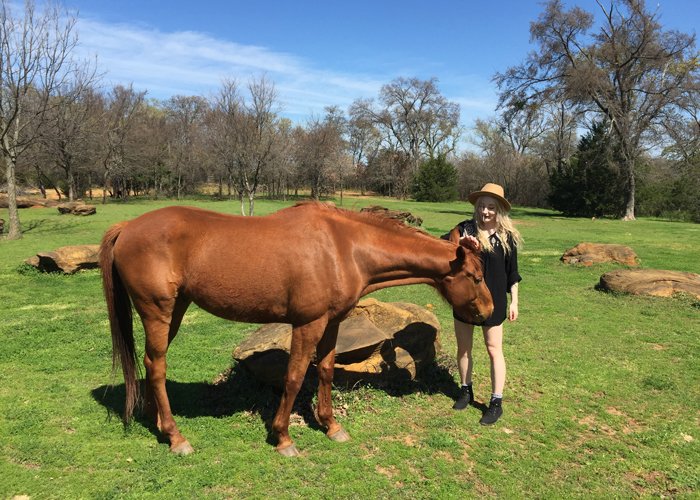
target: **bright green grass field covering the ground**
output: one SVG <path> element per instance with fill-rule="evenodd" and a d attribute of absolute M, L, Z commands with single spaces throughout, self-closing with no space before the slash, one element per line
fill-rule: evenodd
<path fill-rule="evenodd" d="M 190 309 L 168 357 L 175 418 L 196 449 L 172 456 L 144 421 L 118 417 L 123 385 L 97 271 L 40 274 L 24 259 L 98 243 L 114 222 L 172 204 L 98 205 L 91 217 L 22 210 L 24 238 L 0 240 L 0 497 L 458 498 L 695 497 L 700 491 L 700 303 L 595 289 L 613 265 L 569 267 L 581 241 L 630 245 L 646 268 L 700 272 L 700 226 L 642 219 L 565 219 L 515 208 L 520 319 L 506 325 L 505 414 L 451 410 L 456 377 L 449 307 L 427 286 L 374 294 L 432 304 L 442 325 L 437 363 L 412 384 L 334 391 L 352 440 L 328 440 L 296 406 L 296 459 L 274 452 L 267 426 L 279 394 L 233 367 L 233 348 L 256 325 Z M 236 213 L 236 202 L 189 201 Z M 410 210 L 442 234 L 466 204 L 345 198 L 347 208 Z M 259 200 L 270 213 L 282 202 Z M 0 215 L 1 216 L 1 215 Z M 6 217 L 5 217 L 6 218 Z M 143 334 L 137 328 L 139 351 Z M 489 393 L 485 349 L 475 349 L 477 399 Z M 114 388 L 109 385 L 114 383 Z"/>

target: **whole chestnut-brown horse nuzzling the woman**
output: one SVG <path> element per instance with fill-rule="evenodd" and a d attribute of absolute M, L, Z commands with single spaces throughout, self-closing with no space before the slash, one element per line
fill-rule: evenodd
<path fill-rule="evenodd" d="M 112 358 L 126 387 L 124 417 L 139 400 L 131 304 L 145 330 L 145 409 L 178 454 L 193 451 L 175 424 L 165 390 L 165 356 L 187 307 L 250 323 L 290 323 L 285 388 L 272 432 L 296 455 L 289 417 L 314 349 L 318 420 L 329 438 L 348 434 L 333 417 L 331 383 L 339 322 L 363 295 L 427 283 L 460 316 L 493 309 L 481 262 L 458 234 L 445 241 L 375 215 L 305 203 L 265 217 L 168 207 L 112 226 L 100 267 L 112 330 Z"/>

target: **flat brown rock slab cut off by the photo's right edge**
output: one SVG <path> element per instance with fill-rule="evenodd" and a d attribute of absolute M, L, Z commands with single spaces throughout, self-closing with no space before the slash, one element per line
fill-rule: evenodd
<path fill-rule="evenodd" d="M 700 274 L 660 269 L 618 269 L 601 276 L 599 288 L 655 297 L 687 293 L 700 299 Z"/>

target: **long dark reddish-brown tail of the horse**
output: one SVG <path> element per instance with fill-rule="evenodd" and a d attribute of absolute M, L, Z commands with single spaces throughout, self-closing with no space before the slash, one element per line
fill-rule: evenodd
<path fill-rule="evenodd" d="M 131 301 L 119 272 L 114 267 L 114 244 L 125 225 L 126 223 L 113 225 L 102 238 L 100 269 L 102 270 L 102 287 L 109 313 L 109 325 L 112 330 L 112 373 L 114 374 L 117 366 L 121 365 L 126 390 L 124 420 L 128 422 L 134 413 L 140 395 L 137 382 L 138 365 L 134 349 Z"/>

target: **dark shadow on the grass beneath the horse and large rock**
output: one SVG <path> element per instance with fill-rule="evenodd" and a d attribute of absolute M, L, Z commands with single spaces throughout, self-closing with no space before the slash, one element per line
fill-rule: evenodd
<path fill-rule="evenodd" d="M 414 380 L 406 380 L 406 377 L 401 376 L 394 376 L 390 380 L 375 378 L 358 381 L 352 385 L 334 385 L 333 391 L 352 392 L 370 387 L 384 391 L 391 397 L 422 392 L 442 393 L 455 399 L 458 395 L 458 387 L 449 370 L 443 366 L 443 361 L 436 359 L 425 366 Z M 143 381 L 141 382 L 143 384 Z M 292 415 L 293 418 L 296 415 L 296 418 L 303 419 L 310 428 L 321 430 L 314 414 L 317 384 L 316 370 L 310 368 L 294 401 Z M 257 414 L 265 424 L 267 442 L 271 445 L 276 444 L 272 435 L 272 420 L 280 402 L 281 390 L 258 381 L 242 365 L 234 363 L 229 371 L 212 383 L 168 380 L 166 388 L 173 415 L 196 418 L 225 417 L 241 412 Z M 95 401 L 107 409 L 110 418 L 120 418 L 123 415 L 125 399 L 123 383 L 96 387 L 91 394 Z M 144 412 L 137 410 L 134 420 L 162 440 L 155 423 Z"/>

